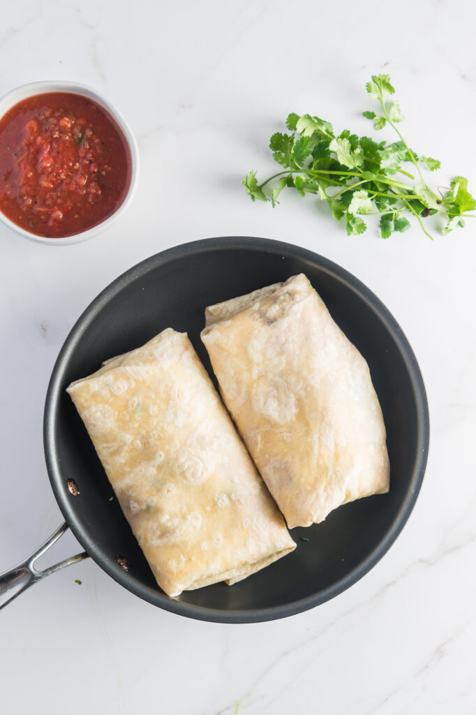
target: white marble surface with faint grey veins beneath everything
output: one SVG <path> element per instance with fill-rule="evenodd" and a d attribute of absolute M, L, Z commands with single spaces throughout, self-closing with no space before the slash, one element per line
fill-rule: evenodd
<path fill-rule="evenodd" d="M 434 242 L 416 226 L 349 239 L 312 200 L 273 210 L 241 186 L 248 169 L 272 167 L 269 135 L 290 111 L 368 131 L 365 82 L 388 71 L 405 136 L 442 161 L 437 181 L 463 174 L 474 191 L 475 21 L 462 0 L 2 6 L 0 94 L 40 79 L 91 84 L 131 124 L 142 174 L 127 214 L 92 242 L 35 245 L 0 227 L 0 571 L 61 521 L 42 412 L 64 338 L 105 285 L 166 247 L 258 235 L 347 268 L 402 325 L 432 425 L 410 521 L 341 596 L 282 621 L 202 623 L 80 563 L 1 611 L 2 713 L 476 712 L 476 220 Z M 77 548 L 65 536 L 54 556 Z"/>

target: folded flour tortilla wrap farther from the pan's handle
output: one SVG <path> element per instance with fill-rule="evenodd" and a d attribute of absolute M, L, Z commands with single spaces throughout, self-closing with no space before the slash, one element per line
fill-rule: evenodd
<path fill-rule="evenodd" d="M 225 405 L 289 528 L 389 489 L 369 368 L 304 275 L 208 307 Z"/>

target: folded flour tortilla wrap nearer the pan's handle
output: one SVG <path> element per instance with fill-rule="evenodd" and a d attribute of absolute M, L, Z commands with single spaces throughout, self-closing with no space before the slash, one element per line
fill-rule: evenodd
<path fill-rule="evenodd" d="M 186 334 L 168 328 L 67 391 L 169 596 L 295 548 Z"/>

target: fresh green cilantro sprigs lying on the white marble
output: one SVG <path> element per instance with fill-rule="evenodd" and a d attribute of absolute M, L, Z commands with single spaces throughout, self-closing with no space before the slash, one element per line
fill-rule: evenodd
<path fill-rule="evenodd" d="M 409 229 L 409 215 L 416 218 L 430 238 L 423 223 L 427 216 L 438 214 L 445 219 L 443 234 L 464 226 L 463 217 L 474 217 L 469 212 L 476 209 L 476 200 L 467 190 L 467 179 L 455 177 L 444 193 L 435 194 L 425 182 L 422 169 L 435 171 L 440 162 L 417 154 L 402 137 L 397 124 L 404 117 L 399 102 L 389 99 L 395 94 L 390 77 L 372 75 L 366 87 L 380 109 L 378 114 L 373 110 L 362 112 L 363 116 L 377 130 L 388 124 L 397 133 L 397 141 L 376 142 L 370 137 L 357 137 L 349 129 L 336 136 L 332 124 L 319 117 L 289 114 L 289 134 L 277 132 L 269 142 L 275 161 L 284 170 L 261 183 L 255 171 L 249 172 L 243 182 L 249 196 L 253 201 L 271 201 L 275 207 L 285 188 L 295 189 L 302 196 L 315 194 L 327 201 L 334 219 L 345 220 L 348 235 L 365 232 L 367 224 L 362 216 L 366 215 L 380 216 L 382 238 Z M 408 164 L 413 164 L 416 172 L 412 169 L 411 173 Z"/>

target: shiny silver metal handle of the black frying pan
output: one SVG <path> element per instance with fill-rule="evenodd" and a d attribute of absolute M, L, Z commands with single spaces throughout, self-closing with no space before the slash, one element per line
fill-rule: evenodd
<path fill-rule="evenodd" d="M 87 558 L 88 554 L 83 551 L 82 553 L 76 554 L 76 556 L 70 556 L 69 558 L 65 558 L 64 561 L 55 563 L 54 566 L 44 568 L 43 571 L 38 571 L 34 567 L 36 559 L 48 551 L 49 547 L 52 546 L 55 541 L 58 541 L 59 537 L 64 534 L 67 528 L 68 525 L 66 522 L 62 523 L 61 526 L 51 534 L 49 539 L 46 539 L 44 544 L 32 553 L 29 558 L 26 558 L 25 561 L 21 561 L 17 566 L 14 566 L 14 568 L 0 575 L 0 608 L 3 608 L 7 603 L 13 601 L 16 596 L 19 596 L 22 591 L 25 591 L 26 588 L 36 583 L 36 581 L 41 581 L 41 578 L 44 578 L 44 576 L 49 576 L 50 573 L 59 571 L 59 569 L 64 568 L 64 566 L 70 566 L 71 563 L 76 563 L 76 561 L 82 561 L 84 558 Z"/>

